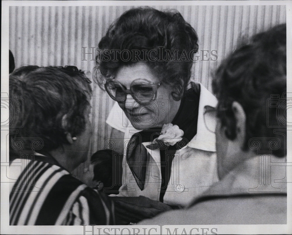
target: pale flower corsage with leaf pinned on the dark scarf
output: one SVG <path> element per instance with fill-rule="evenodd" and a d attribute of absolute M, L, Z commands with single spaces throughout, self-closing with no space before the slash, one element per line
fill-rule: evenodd
<path fill-rule="evenodd" d="M 147 145 L 146 148 L 154 149 L 164 149 L 169 145 L 175 145 L 178 141 L 181 141 L 183 138 L 184 132 L 177 125 L 171 123 L 164 124 L 161 130 L 160 136 L 155 138 L 150 145 Z"/>

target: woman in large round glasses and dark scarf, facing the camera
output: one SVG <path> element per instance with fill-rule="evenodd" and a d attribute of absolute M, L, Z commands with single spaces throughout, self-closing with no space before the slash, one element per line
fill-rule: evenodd
<path fill-rule="evenodd" d="M 118 196 L 145 196 L 184 207 L 216 173 L 216 98 L 190 83 L 196 31 L 177 11 L 134 8 L 99 42 L 95 80 L 116 101 L 107 123 L 124 137 L 123 182 Z M 206 114 L 212 112 L 205 112 Z"/>

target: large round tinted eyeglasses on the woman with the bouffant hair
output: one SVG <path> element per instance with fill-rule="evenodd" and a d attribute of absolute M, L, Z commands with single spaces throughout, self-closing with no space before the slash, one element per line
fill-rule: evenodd
<path fill-rule="evenodd" d="M 105 90 L 109 96 L 117 102 L 123 102 L 127 94 L 134 95 L 134 99 L 137 101 L 151 101 L 156 99 L 157 89 L 160 85 L 160 82 L 150 83 L 146 79 L 136 79 L 131 83 L 130 89 L 127 89 L 117 80 L 108 79 L 105 83 Z"/>

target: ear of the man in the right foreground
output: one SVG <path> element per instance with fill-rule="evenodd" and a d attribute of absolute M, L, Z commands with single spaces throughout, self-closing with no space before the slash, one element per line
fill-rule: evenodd
<path fill-rule="evenodd" d="M 240 147 L 243 147 L 246 136 L 246 114 L 241 104 L 237 101 L 233 101 L 232 103 L 232 112 L 236 122 L 235 141 L 237 141 Z"/>

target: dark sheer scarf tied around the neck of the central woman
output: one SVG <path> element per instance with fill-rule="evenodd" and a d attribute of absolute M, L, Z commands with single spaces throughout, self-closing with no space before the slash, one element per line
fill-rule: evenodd
<path fill-rule="evenodd" d="M 167 148 L 160 149 L 162 183 L 159 201 L 161 202 L 163 202 L 163 197 L 169 182 L 171 175 L 171 163 L 175 156 L 176 150 L 179 150 L 187 145 L 187 143 L 189 143 L 197 134 L 199 97 L 200 85 L 191 83 L 191 88 L 185 92 L 178 112 L 171 122 L 173 125 L 178 125 L 178 127 L 184 131 L 184 135 L 182 136 L 183 139 L 173 146 L 169 145 Z M 161 129 L 162 127 L 154 127 L 139 131 L 138 133 L 133 134 L 128 143 L 126 152 L 127 163 L 140 190 L 144 189 L 147 170 L 147 150 L 142 143 L 152 142 L 160 135 Z"/>

